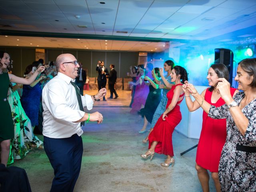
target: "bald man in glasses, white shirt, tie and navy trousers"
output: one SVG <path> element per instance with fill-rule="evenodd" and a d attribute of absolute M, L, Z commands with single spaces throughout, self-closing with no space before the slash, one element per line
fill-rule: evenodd
<path fill-rule="evenodd" d="M 74 84 L 78 76 L 78 62 L 72 54 L 56 59 L 58 75 L 50 80 L 42 92 L 44 149 L 54 169 L 51 192 L 72 192 L 79 176 L 83 144 L 82 124 L 102 123 L 99 112 L 85 113 L 94 101 L 106 95 L 106 88 L 94 96 L 81 96 Z"/>

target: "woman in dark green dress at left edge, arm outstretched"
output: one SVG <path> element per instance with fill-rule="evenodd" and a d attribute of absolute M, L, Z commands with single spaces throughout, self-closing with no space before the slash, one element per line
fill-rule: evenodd
<path fill-rule="evenodd" d="M 10 139 L 14 137 L 14 123 L 12 120 L 12 112 L 7 100 L 9 83 L 31 84 L 38 74 L 44 71 L 44 66 L 39 67 L 34 74 L 28 78 L 20 78 L 13 74 L 8 74 L 10 67 L 10 54 L 0 51 L 0 146 L 1 146 L 1 163 L 7 165 L 10 154 Z"/>

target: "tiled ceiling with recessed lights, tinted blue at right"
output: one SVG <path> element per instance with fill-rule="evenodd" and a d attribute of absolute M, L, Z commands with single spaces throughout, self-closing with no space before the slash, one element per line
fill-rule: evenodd
<path fill-rule="evenodd" d="M 256 1 L 1 0 L 0 34 L 0 46 L 139 52 L 229 43 L 256 37 Z"/>

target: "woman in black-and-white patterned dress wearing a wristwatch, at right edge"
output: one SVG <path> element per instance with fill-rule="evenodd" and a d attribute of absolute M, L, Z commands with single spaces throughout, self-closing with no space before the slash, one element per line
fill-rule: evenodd
<path fill-rule="evenodd" d="M 192 84 L 189 92 L 211 118 L 226 118 L 227 138 L 219 164 L 221 191 L 256 191 L 256 58 L 239 62 L 235 80 L 238 92 L 233 98 L 230 83 L 218 79 L 217 90 L 226 104 L 215 107 L 207 103 Z"/>

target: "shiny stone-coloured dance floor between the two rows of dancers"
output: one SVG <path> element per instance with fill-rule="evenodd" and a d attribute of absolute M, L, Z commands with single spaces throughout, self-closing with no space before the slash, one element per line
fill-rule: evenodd
<path fill-rule="evenodd" d="M 83 127 L 84 153 L 75 192 L 200 192 L 196 174 L 196 149 L 180 153 L 196 145 L 198 140 L 174 131 L 174 167 L 162 167 L 166 156 L 156 154 L 152 161 L 140 158 L 148 144 L 141 141 L 147 133 L 139 134 L 143 119 L 129 113 L 130 91 L 118 90 L 118 99 L 94 103 L 91 112 L 104 116 L 102 124 L 88 122 Z M 96 90 L 86 91 L 95 94 Z M 109 90 L 108 95 L 109 96 Z M 148 126 L 148 129 L 150 126 Z M 38 136 L 43 139 L 41 135 Z M 50 191 L 53 169 L 44 150 L 34 149 L 12 166 L 26 170 L 33 192 Z M 215 191 L 210 179 L 210 190 Z"/>

